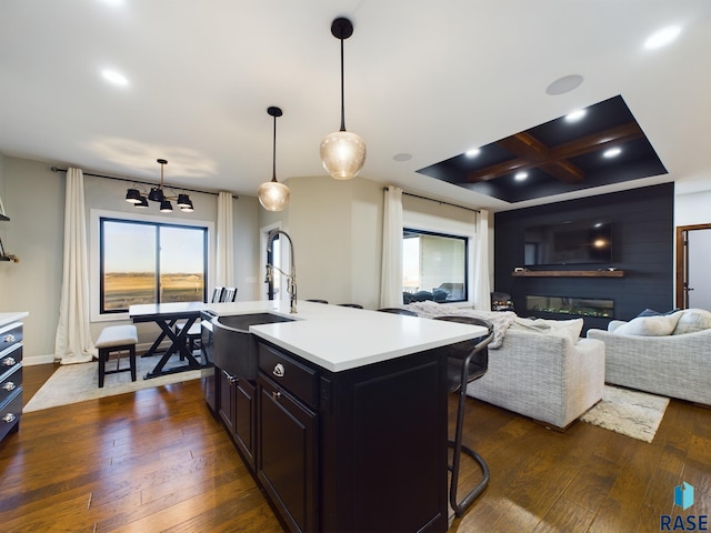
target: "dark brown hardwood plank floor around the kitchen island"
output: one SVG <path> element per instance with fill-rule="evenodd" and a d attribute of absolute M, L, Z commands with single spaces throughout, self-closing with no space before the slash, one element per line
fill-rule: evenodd
<path fill-rule="evenodd" d="M 23 369 L 26 403 L 53 370 Z M 653 532 L 661 514 L 711 514 L 711 410 L 687 402 L 671 401 L 647 444 L 470 400 L 464 440 L 491 483 L 453 532 Z M 7 532 L 282 531 L 199 381 L 28 413 L 0 443 L 0 475 Z M 682 481 L 695 492 L 687 511 L 673 505 Z"/>

